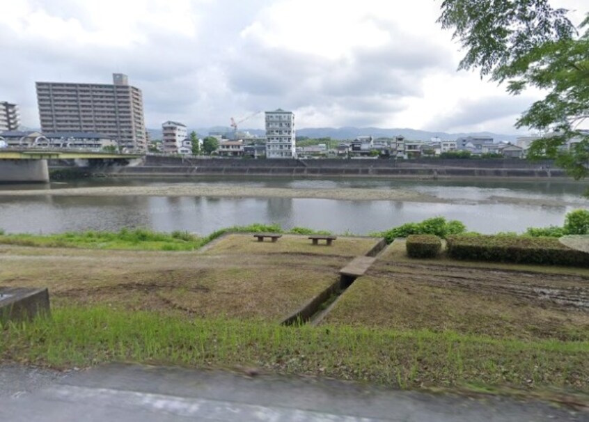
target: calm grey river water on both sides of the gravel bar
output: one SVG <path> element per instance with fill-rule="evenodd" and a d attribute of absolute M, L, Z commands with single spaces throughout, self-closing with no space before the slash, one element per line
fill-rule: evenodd
<path fill-rule="evenodd" d="M 453 203 L 342 201 L 306 198 L 206 198 L 162 196 L 52 196 L 64 187 L 150 186 L 169 183 L 290 187 L 297 189 L 403 188 Z M 570 181 L 407 181 L 200 178 L 198 180 L 80 180 L 51 185 L 0 185 L 1 191 L 47 189 L 42 196 L 0 196 L 0 228 L 7 233 L 68 230 L 188 230 L 205 235 L 218 228 L 252 223 L 304 226 L 364 235 L 435 216 L 457 219 L 480 233 L 522 232 L 529 226 L 562 225 L 565 214 L 588 208 L 588 185 Z M 502 198 L 510 198 L 508 203 Z M 485 203 L 480 203 L 484 201 Z M 530 203 L 526 203 L 529 201 Z M 546 201 L 545 205 L 538 203 Z"/>

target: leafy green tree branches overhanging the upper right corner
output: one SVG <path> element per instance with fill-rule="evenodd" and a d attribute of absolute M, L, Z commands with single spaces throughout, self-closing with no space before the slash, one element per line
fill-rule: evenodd
<path fill-rule="evenodd" d="M 459 69 L 478 69 L 512 95 L 547 92 L 516 127 L 553 131 L 528 157 L 555 158 L 579 180 L 589 175 L 589 132 L 579 128 L 589 118 L 589 14 L 576 28 L 567 12 L 548 0 L 444 0 L 438 22 L 466 49 Z"/>

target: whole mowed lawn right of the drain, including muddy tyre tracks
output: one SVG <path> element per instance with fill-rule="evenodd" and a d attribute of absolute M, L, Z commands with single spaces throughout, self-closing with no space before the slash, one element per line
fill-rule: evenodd
<path fill-rule="evenodd" d="M 586 269 L 412 260 L 393 244 L 322 324 L 589 341 Z"/>

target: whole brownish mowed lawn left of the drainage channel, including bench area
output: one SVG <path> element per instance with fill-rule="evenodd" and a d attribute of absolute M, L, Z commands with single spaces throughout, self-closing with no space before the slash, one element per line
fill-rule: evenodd
<path fill-rule="evenodd" d="M 0 286 L 47 287 L 53 306 L 280 322 L 338 281 L 347 254 L 376 243 L 338 238 L 338 246 L 313 247 L 299 236 L 274 244 L 252 239 L 229 235 L 203 253 L 3 246 Z M 276 253 L 262 250 L 270 248 Z"/>

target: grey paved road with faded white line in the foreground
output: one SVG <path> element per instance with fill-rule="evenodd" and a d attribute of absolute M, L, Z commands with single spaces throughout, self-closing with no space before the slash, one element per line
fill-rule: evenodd
<path fill-rule="evenodd" d="M 7 388 L 5 382 L 15 386 Z M 65 375 L 0 367 L 0 386 L 0 421 L 13 422 L 589 421 L 589 413 L 539 402 L 139 365 L 113 364 Z"/>

